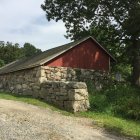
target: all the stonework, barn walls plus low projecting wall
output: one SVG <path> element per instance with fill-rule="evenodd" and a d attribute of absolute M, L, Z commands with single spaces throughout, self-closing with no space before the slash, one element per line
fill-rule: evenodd
<path fill-rule="evenodd" d="M 86 111 L 89 100 L 85 81 L 90 79 L 101 88 L 107 76 L 94 70 L 39 66 L 0 75 L 0 91 L 31 95 L 72 112 Z"/>

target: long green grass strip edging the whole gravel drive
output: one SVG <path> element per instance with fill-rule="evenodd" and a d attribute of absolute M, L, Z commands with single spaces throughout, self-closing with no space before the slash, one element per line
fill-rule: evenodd
<path fill-rule="evenodd" d="M 130 136 L 130 137 L 140 139 L 139 121 L 124 119 L 122 117 L 116 117 L 114 115 L 107 114 L 105 112 L 96 112 L 93 110 L 88 112 L 72 114 L 66 111 L 59 110 L 39 99 L 34 99 L 32 97 L 27 97 L 27 96 L 11 95 L 9 93 L 0 93 L 0 98 L 7 99 L 7 100 L 22 101 L 28 104 L 32 104 L 44 108 L 51 108 L 52 110 L 59 111 L 64 115 L 88 117 L 93 119 L 93 125 L 104 127 L 107 131 L 111 131 L 111 133 L 115 132 L 117 133 L 117 135 L 118 134 L 125 135 L 125 136 Z"/>

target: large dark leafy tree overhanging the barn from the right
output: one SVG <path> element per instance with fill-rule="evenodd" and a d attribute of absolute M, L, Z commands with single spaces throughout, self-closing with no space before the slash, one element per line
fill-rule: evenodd
<path fill-rule="evenodd" d="M 41 7 L 48 21 L 65 23 L 72 40 L 91 25 L 103 25 L 109 31 L 111 27 L 114 35 L 110 40 L 117 39 L 117 49 L 121 47 L 130 58 L 133 84 L 140 86 L 140 0 L 45 0 Z"/>

